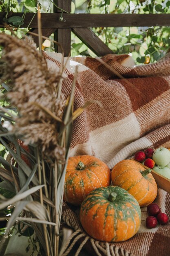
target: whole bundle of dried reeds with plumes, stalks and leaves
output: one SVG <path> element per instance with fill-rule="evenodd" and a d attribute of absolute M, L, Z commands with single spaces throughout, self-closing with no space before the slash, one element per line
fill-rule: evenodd
<path fill-rule="evenodd" d="M 0 126 L 5 141 L 14 144 L 16 153 L 3 139 L 0 139 L 1 143 L 18 164 L 18 167 L 14 167 L 4 159 L 0 159 L 5 167 L 2 173 L 6 173 L 4 176 L 0 172 L 0 176 L 3 176 L 9 187 L 9 182 L 12 181 L 16 188 L 15 197 L 9 200 L 10 204 L 15 205 L 15 210 L 8 222 L 7 230 L 15 224 L 16 219 L 20 220 L 18 216 L 21 210 L 24 210 L 27 218 L 25 222 L 33 227 L 40 241 L 41 250 L 48 256 L 57 256 L 62 188 L 73 117 L 75 118 L 73 113 L 75 79 L 71 95 L 65 105 L 61 93 L 63 64 L 59 74 L 50 72 L 44 57 L 28 37 L 19 40 L 1 33 L 0 45 L 4 47 L 1 62 L 4 63 L 5 72 L 2 80 L 9 81 L 11 88 L 6 97 L 11 106 L 18 109 L 15 118 L 5 116 L 6 110 L 2 109 L 3 117 L 14 121 L 14 123 L 10 121 L 11 131 L 7 132 L 6 128 Z M 76 116 L 81 112 L 82 109 L 79 109 Z M 22 138 L 25 145 L 29 145 L 29 152 L 18 145 L 18 137 Z M 23 153 L 29 159 L 31 168 L 23 161 Z M 6 198 L 1 198 L 0 209 L 8 205 L 8 201 L 5 200 Z"/>

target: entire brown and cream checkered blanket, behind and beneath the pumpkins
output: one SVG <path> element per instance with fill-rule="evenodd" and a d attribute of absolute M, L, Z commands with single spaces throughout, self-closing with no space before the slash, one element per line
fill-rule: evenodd
<path fill-rule="evenodd" d="M 49 69 L 58 71 L 61 55 L 44 53 L 44 56 Z M 170 54 L 158 63 L 137 67 L 132 67 L 128 55 L 110 54 L 102 60 L 107 67 L 90 57 L 70 58 L 66 65 L 62 84 L 66 98 L 71 91 L 75 65 L 78 65 L 74 108 L 88 100 L 102 103 L 102 107 L 89 106 L 75 120 L 70 156 L 95 155 L 113 168 L 137 150 L 170 148 Z M 160 189 L 157 201 L 170 218 L 170 195 Z M 67 216 L 71 216 L 70 221 Z M 71 221 L 75 216 L 70 210 L 64 211 L 63 218 L 75 230 L 80 229 L 79 224 L 75 225 L 76 220 Z M 143 222 L 139 232 L 123 243 L 99 243 L 86 236 L 83 230 L 72 236 L 79 240 L 80 235 L 85 234 L 82 235 L 84 241 L 90 241 L 96 255 L 170 256 L 170 223 L 146 229 Z M 64 256 L 69 255 L 70 247 L 68 244 Z"/>

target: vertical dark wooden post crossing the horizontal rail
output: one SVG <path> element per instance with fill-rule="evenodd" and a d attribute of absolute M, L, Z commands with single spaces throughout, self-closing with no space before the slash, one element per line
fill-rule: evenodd
<path fill-rule="evenodd" d="M 54 0 L 53 11 L 61 13 L 62 18 L 62 10 L 58 9 L 55 4 L 64 11 L 71 12 L 71 0 Z M 61 22 L 65 22 L 64 19 L 61 20 Z M 68 56 L 71 51 L 71 29 L 57 29 L 57 31 L 54 32 L 54 40 L 62 45 L 64 49 L 64 56 Z M 55 45 L 55 52 L 62 52 L 61 48 L 57 47 L 57 45 Z"/>

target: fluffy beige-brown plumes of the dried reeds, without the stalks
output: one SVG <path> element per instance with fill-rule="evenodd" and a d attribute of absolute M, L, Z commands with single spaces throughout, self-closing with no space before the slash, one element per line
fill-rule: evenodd
<path fill-rule="evenodd" d="M 6 65 L 1 79 L 10 81 L 7 97 L 19 112 L 13 132 L 23 135 L 25 144 L 38 144 L 49 156 L 64 161 L 65 149 L 57 141 L 64 106 L 64 97 L 57 98 L 61 76 L 48 70 L 30 37 L 20 40 L 0 33 L 0 45 Z"/>

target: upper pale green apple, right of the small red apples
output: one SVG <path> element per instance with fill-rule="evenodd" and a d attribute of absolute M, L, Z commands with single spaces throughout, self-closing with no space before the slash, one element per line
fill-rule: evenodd
<path fill-rule="evenodd" d="M 170 162 L 170 151 L 168 148 L 158 148 L 153 153 L 152 159 L 155 161 L 156 165 L 166 166 Z"/>

